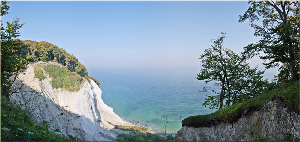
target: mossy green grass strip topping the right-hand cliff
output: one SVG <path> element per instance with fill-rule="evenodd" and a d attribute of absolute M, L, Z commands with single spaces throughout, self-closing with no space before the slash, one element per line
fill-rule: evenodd
<path fill-rule="evenodd" d="M 287 83 L 273 91 L 257 95 L 247 101 L 233 104 L 211 114 L 190 116 L 182 120 L 182 126 L 208 127 L 215 122 L 236 122 L 245 110 L 258 110 L 278 95 L 289 104 L 292 111 L 299 113 L 299 81 Z"/>

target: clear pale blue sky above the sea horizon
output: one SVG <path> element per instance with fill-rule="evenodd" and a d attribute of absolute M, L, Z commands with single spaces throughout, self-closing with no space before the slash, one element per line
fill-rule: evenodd
<path fill-rule="evenodd" d="M 211 39 L 227 32 L 235 52 L 257 42 L 247 1 L 11 1 L 2 22 L 21 18 L 21 40 L 47 41 L 88 67 L 198 67 Z M 4 23 L 5 26 L 5 23 Z M 250 66 L 263 69 L 262 60 Z"/>

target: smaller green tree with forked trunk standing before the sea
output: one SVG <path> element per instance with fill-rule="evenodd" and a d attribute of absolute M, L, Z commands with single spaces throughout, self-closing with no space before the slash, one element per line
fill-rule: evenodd
<path fill-rule="evenodd" d="M 216 95 L 207 96 L 203 102 L 203 106 L 209 106 L 210 109 L 223 108 L 223 102 L 226 105 L 234 104 L 241 96 L 249 99 L 252 96 L 262 93 L 267 80 L 263 80 L 264 71 L 259 71 L 256 68 L 250 68 L 247 57 L 240 56 L 230 49 L 223 47 L 223 41 L 226 38 L 226 33 L 222 33 L 214 42 L 211 42 L 210 47 L 204 51 L 204 54 L 199 58 L 202 62 L 202 69 L 197 74 L 197 80 L 205 80 L 205 83 L 215 81 L 214 87 L 203 87 L 201 92 L 211 91 Z M 217 92 L 216 89 L 221 89 Z"/>

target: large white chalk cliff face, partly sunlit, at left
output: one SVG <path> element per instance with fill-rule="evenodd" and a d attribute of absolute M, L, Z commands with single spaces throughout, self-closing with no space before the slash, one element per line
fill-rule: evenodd
<path fill-rule="evenodd" d="M 35 78 L 34 66 L 57 64 L 56 62 L 35 62 L 27 66 L 25 74 L 20 74 L 15 86 L 21 87 L 11 100 L 29 111 L 37 122 L 49 124 L 51 130 L 60 134 L 78 137 L 82 141 L 110 141 L 116 138 L 113 125 L 130 125 L 113 112 L 111 107 L 101 99 L 101 89 L 91 80 L 84 79 L 81 89 L 69 92 L 54 89 L 46 78 L 39 81 Z"/>

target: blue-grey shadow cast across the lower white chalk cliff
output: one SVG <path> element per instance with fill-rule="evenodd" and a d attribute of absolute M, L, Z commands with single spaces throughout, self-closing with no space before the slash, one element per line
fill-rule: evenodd
<path fill-rule="evenodd" d="M 42 83 L 39 82 L 39 84 L 41 85 Z M 10 100 L 34 116 L 36 122 L 42 125 L 46 125 L 45 122 L 48 122 L 47 125 L 50 130 L 70 137 L 77 137 L 84 141 L 108 141 L 116 138 L 116 133 L 113 132 L 116 126 L 111 126 L 111 129 L 109 129 L 101 123 L 101 113 L 97 108 L 95 93 L 93 93 L 93 101 L 98 117 L 95 113 L 88 112 L 93 115 L 93 119 L 90 119 L 83 115 L 84 112 L 81 114 L 72 113 L 67 109 L 68 106 L 60 107 L 55 98 L 49 96 L 50 93 L 42 87 L 42 90 L 32 89 L 30 86 L 22 84 L 22 80 L 16 81 L 14 85 L 20 88 L 11 95 Z M 88 107 L 91 107 L 91 105 L 92 103 Z"/>

